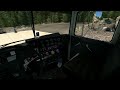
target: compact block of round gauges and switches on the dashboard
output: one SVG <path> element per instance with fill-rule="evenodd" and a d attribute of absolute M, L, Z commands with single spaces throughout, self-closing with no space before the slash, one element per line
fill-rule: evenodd
<path fill-rule="evenodd" d="M 40 41 L 39 50 L 42 60 L 60 55 L 60 48 L 60 37 Z"/>

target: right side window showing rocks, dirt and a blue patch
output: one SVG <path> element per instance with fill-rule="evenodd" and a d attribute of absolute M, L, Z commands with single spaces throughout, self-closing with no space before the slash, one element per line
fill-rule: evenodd
<path fill-rule="evenodd" d="M 119 11 L 80 11 L 75 35 L 109 42 L 116 30 L 119 15 Z"/>

